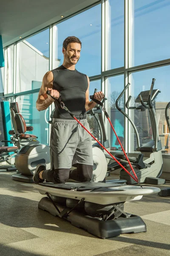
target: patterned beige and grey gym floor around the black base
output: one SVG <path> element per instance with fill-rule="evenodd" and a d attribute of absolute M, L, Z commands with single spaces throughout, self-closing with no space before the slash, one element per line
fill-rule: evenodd
<path fill-rule="evenodd" d="M 38 209 L 43 195 L 12 174 L 0 170 L 0 256 L 170 256 L 169 196 L 125 203 L 126 212 L 142 217 L 146 233 L 99 239 Z"/>

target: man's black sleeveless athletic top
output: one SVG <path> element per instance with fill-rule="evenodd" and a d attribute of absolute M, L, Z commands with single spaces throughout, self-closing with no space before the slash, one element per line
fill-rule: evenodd
<path fill-rule="evenodd" d="M 61 93 L 62 102 L 77 119 L 85 119 L 85 93 L 88 89 L 87 76 L 76 69 L 68 70 L 62 65 L 51 70 L 51 72 L 54 75 L 53 89 Z M 57 101 L 54 104 L 53 118 L 73 119 L 67 111 L 60 107 Z"/>

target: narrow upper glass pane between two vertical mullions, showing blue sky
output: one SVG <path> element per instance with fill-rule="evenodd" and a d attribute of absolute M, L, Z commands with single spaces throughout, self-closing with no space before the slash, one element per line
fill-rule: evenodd
<path fill-rule="evenodd" d="M 109 0 L 108 70 L 124 66 L 124 0 Z"/>

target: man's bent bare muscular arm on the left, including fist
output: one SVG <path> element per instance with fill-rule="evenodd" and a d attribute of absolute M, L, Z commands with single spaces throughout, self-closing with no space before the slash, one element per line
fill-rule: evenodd
<path fill-rule="evenodd" d="M 51 96 L 57 99 L 59 98 L 59 92 L 57 90 L 53 90 L 53 73 L 51 71 L 48 71 L 42 80 L 42 86 L 36 102 L 36 108 L 38 111 L 47 109 L 54 102 L 54 99 L 46 93 L 47 90 L 50 90 Z"/>

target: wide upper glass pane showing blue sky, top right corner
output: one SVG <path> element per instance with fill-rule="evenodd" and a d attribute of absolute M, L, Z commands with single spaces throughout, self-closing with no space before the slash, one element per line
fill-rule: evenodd
<path fill-rule="evenodd" d="M 132 66 L 170 58 L 170 1 L 133 0 Z"/>

